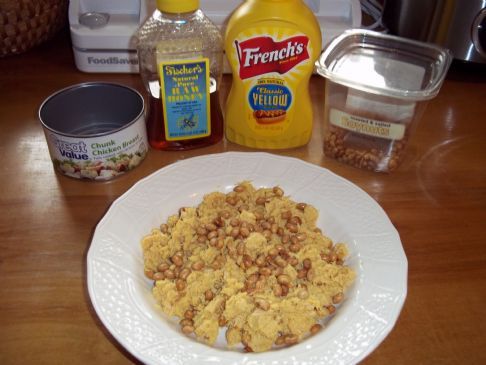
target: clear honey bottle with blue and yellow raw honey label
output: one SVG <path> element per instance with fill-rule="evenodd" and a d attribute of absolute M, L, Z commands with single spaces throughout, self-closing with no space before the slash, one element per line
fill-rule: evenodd
<path fill-rule="evenodd" d="M 185 150 L 220 141 L 222 36 L 199 0 L 157 0 L 136 39 L 150 145 Z"/>

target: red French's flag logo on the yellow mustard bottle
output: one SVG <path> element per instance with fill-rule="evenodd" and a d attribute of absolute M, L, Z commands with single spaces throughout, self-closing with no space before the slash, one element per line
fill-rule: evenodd
<path fill-rule="evenodd" d="M 299 63 L 309 59 L 309 38 L 300 35 L 275 42 L 271 37 L 255 37 L 243 42 L 235 41 L 240 62 L 240 78 L 263 75 L 269 72 L 285 74 Z"/>

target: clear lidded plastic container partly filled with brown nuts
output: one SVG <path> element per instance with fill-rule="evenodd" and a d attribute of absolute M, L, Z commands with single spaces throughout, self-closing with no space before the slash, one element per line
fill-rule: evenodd
<path fill-rule="evenodd" d="M 327 79 L 325 155 L 373 171 L 397 169 L 451 60 L 436 45 L 362 29 L 335 38 L 316 62 Z"/>

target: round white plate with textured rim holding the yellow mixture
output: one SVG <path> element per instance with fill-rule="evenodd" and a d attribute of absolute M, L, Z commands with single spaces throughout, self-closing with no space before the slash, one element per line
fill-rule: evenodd
<path fill-rule="evenodd" d="M 319 332 L 302 343 L 266 353 L 214 348 L 182 335 L 158 310 L 143 275 L 140 240 L 182 206 L 204 194 L 228 192 L 242 180 L 281 186 L 296 201 L 316 206 L 318 225 L 346 242 L 357 279 L 347 300 Z M 393 328 L 407 291 L 407 259 L 380 206 L 349 181 L 319 166 L 267 153 L 223 153 L 179 161 L 135 184 L 96 227 L 88 252 L 88 290 L 112 335 L 147 364 L 352 364 Z"/>

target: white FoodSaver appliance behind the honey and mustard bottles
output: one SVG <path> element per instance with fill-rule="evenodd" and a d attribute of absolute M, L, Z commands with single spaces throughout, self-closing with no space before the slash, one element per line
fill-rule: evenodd
<path fill-rule="evenodd" d="M 242 0 L 201 0 L 219 27 Z M 361 26 L 359 0 L 305 0 L 322 30 L 322 44 Z M 134 34 L 155 10 L 155 0 L 71 0 L 69 24 L 74 59 L 84 72 L 138 72 Z M 229 71 L 226 65 L 225 72 Z"/>

